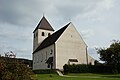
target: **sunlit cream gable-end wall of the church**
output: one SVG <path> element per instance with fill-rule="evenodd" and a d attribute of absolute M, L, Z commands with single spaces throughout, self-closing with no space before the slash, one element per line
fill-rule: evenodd
<path fill-rule="evenodd" d="M 76 64 L 86 64 L 86 44 L 74 25 L 70 24 L 56 42 L 56 68 L 63 69 L 69 59 L 77 59 Z"/>

